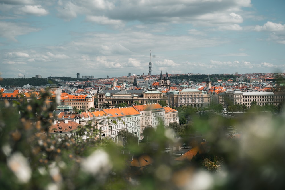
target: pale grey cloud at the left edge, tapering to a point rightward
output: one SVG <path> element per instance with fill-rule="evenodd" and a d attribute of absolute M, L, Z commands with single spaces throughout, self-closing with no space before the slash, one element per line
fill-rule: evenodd
<path fill-rule="evenodd" d="M 24 23 L 12 23 L 0 21 L 0 37 L 17 41 L 16 36 L 36 32 L 39 29 L 27 26 Z"/>

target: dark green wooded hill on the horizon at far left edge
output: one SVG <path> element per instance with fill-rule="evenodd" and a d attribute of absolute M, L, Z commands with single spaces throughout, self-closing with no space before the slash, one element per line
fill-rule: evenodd
<path fill-rule="evenodd" d="M 42 86 L 46 84 L 57 84 L 58 82 L 47 78 L 2 78 L 0 79 L 0 85 L 2 87 L 9 86 L 24 86 L 30 84 L 32 86 Z"/>

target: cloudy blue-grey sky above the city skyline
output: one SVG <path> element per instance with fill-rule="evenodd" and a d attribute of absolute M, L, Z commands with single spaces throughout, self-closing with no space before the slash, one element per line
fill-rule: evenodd
<path fill-rule="evenodd" d="M 0 0 L 0 77 L 285 71 L 284 0 Z M 151 52 L 151 56 L 150 56 Z"/>

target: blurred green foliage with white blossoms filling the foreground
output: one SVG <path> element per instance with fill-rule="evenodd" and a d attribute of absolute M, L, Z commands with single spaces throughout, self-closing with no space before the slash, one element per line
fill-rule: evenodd
<path fill-rule="evenodd" d="M 124 147 L 108 138 L 100 140 L 91 125 L 78 127 L 71 137 L 50 134 L 56 103 L 46 101 L 48 96 L 42 92 L 42 98 L 28 102 L 24 97 L 20 102 L 1 102 L 1 189 L 284 189 L 282 112 L 245 112 L 239 119 L 191 115 L 189 125 L 145 129 L 143 135 L 151 136 L 148 142 L 130 139 Z M 191 161 L 175 161 L 166 148 L 180 146 L 173 137 L 174 131 L 182 133 L 182 127 L 184 132 L 199 131 L 209 150 Z M 192 143 L 199 144 L 200 139 Z M 144 165 L 133 166 L 136 160 Z"/>

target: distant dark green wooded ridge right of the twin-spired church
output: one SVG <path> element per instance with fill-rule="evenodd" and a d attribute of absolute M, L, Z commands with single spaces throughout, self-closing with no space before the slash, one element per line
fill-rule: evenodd
<path fill-rule="evenodd" d="M 201 75 L 179 75 L 179 76 L 171 76 L 170 79 L 179 79 L 180 81 L 182 81 L 184 79 L 184 81 L 189 81 L 189 79 L 192 82 L 203 82 L 208 80 L 208 75 L 205 74 L 201 74 Z M 217 82 L 217 80 L 222 80 L 222 81 L 227 81 L 229 79 L 232 79 L 233 81 L 235 81 L 236 79 L 236 75 L 233 74 L 212 74 L 209 75 L 210 79 L 212 82 Z M 244 81 L 247 81 L 247 79 L 245 79 Z"/>

